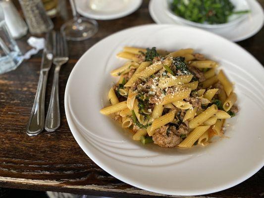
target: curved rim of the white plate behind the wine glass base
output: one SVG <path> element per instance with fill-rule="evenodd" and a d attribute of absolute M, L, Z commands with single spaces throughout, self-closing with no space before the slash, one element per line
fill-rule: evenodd
<path fill-rule="evenodd" d="M 76 1 L 76 2 L 78 2 L 78 1 Z M 143 0 L 137 0 L 137 4 L 133 8 L 127 9 L 125 11 L 121 11 L 119 13 L 109 14 L 109 15 L 100 15 L 100 14 L 92 14 L 89 12 L 85 12 L 84 10 L 82 10 L 78 7 L 78 3 L 76 5 L 76 9 L 77 9 L 77 12 L 84 17 L 88 17 L 88 18 L 92 18 L 92 19 L 96 19 L 96 20 L 113 20 L 113 19 L 122 18 L 122 17 L 129 15 L 129 14 L 132 14 L 133 12 L 135 12 L 136 10 L 139 9 L 139 7 L 142 5 L 142 2 L 143 2 Z"/>

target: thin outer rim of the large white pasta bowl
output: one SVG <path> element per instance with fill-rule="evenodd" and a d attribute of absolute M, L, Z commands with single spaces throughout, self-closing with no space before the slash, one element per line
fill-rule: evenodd
<path fill-rule="evenodd" d="M 108 165 L 107 164 L 104 164 L 104 163 L 101 163 L 100 162 L 100 160 L 98 160 L 97 158 L 96 158 L 96 156 L 94 156 L 94 154 L 92 153 L 92 152 L 89 152 L 88 151 L 88 149 L 87 148 L 85 148 L 85 143 L 84 143 L 84 141 L 83 141 L 83 139 L 81 138 L 82 137 L 82 134 L 80 134 L 80 133 L 76 133 L 75 132 L 75 124 L 72 124 L 71 122 L 72 122 L 72 120 L 70 119 L 70 113 L 69 113 L 69 111 L 68 111 L 68 106 L 67 106 L 67 104 L 68 104 L 68 101 L 67 101 L 67 99 L 68 99 L 68 91 L 69 91 L 69 82 L 70 82 L 70 80 L 71 80 L 71 78 L 72 78 L 72 76 L 73 76 L 73 73 L 75 72 L 75 70 L 76 70 L 76 68 L 78 67 L 77 66 L 77 64 L 78 64 L 78 62 L 80 62 L 81 61 L 81 59 L 83 59 L 84 58 L 84 56 L 85 56 L 85 54 L 86 53 L 88 53 L 88 51 L 89 50 L 92 50 L 93 48 L 95 48 L 99 43 L 101 43 L 101 42 L 103 42 L 103 41 L 105 41 L 105 40 L 107 40 L 109 37 L 111 37 L 111 36 L 113 36 L 113 35 L 115 35 L 115 34 L 119 34 L 119 33 L 122 33 L 122 32 L 125 32 L 125 31 L 128 31 L 128 30 L 131 30 L 131 29 L 137 29 L 137 28 L 142 28 L 142 27 L 147 27 L 147 26 L 149 26 L 149 27 L 151 27 L 151 26 L 171 26 L 171 27 L 174 27 L 174 28 L 176 28 L 177 26 L 178 27 L 180 27 L 180 28 L 191 28 L 191 29 L 196 29 L 196 30 L 198 30 L 198 31 L 201 31 L 201 32 L 204 32 L 204 33 L 206 33 L 206 34 L 212 34 L 212 35 L 214 35 L 214 36 L 216 36 L 216 37 L 219 37 L 219 39 L 224 39 L 224 40 L 226 40 L 228 43 L 230 43 L 231 45 L 233 44 L 233 45 L 235 45 L 236 47 L 238 47 L 239 49 L 241 49 L 241 50 L 243 50 L 244 52 L 246 52 L 248 55 L 250 55 L 255 61 L 257 61 L 257 63 L 259 63 L 258 64 L 258 67 L 261 67 L 262 69 L 264 69 L 264 66 L 261 64 L 261 62 L 258 60 L 258 59 L 256 59 L 250 52 L 248 52 L 246 49 L 244 49 L 244 48 L 242 48 L 241 46 L 239 46 L 238 44 L 236 44 L 236 43 L 233 43 L 233 42 L 231 42 L 231 41 L 229 41 L 228 39 L 226 39 L 226 38 L 223 38 L 223 37 L 221 37 L 221 36 L 219 36 L 219 35 L 216 35 L 216 34 L 213 34 L 213 33 L 211 33 L 211 32 L 208 32 L 208 31 L 205 31 L 205 30 L 203 30 L 203 29 L 199 29 L 199 28 L 196 28 L 196 27 L 187 27 L 187 26 L 180 26 L 180 25 L 171 25 L 171 24 L 145 24 L 145 25 L 139 25 L 139 26 L 134 26 L 134 27 L 130 27 L 130 28 L 126 28 L 126 29 L 123 29 L 123 30 L 121 30 L 121 31 L 118 31 L 118 32 L 116 32 L 116 33 L 113 33 L 113 34 L 111 34 L 111 35 L 109 35 L 109 36 L 107 36 L 106 38 L 104 38 L 104 39 L 102 39 L 101 41 L 99 41 L 99 42 L 97 42 L 96 44 L 94 44 L 91 48 L 89 48 L 81 57 L 80 57 L 80 59 L 76 62 L 76 64 L 75 64 L 75 66 L 73 67 L 73 69 L 72 69 L 72 71 L 71 71 L 71 73 L 70 73 L 70 75 L 69 75 L 69 78 L 68 78 L 68 81 L 67 81 L 67 84 L 66 84 L 66 88 L 65 88 L 65 94 L 64 94 L 64 108 L 65 108 L 65 115 L 66 115 L 66 119 L 67 119 L 67 123 L 68 123 L 68 125 L 69 125 L 69 128 L 70 128 L 70 130 L 71 130 L 71 133 L 72 133 L 72 135 L 73 135 L 73 137 L 74 137 L 74 139 L 76 140 L 76 142 L 78 143 L 78 145 L 82 148 L 82 150 L 87 154 L 87 156 L 90 158 L 90 159 L 92 159 L 100 168 L 102 168 L 104 171 L 106 171 L 107 173 L 109 173 L 110 175 L 112 175 L 113 177 L 115 177 L 116 179 L 118 179 L 118 180 L 120 180 L 120 181 L 122 181 L 122 182 L 124 182 L 124 183 L 127 183 L 127 184 L 129 184 L 129 185 L 131 185 L 131 186 L 134 186 L 134 187 L 136 187 L 136 188 L 139 188 L 139 189 L 142 189 L 142 190 L 146 190 L 146 191 L 149 191 L 149 192 L 153 192 L 153 193 L 158 193 L 158 194 L 164 194 L 164 195 L 170 195 L 170 196 L 198 196 L 198 195 L 206 195 L 206 194 L 211 194 L 211 193 L 215 193 L 215 192 L 219 192 L 219 191 L 223 191 L 223 190 L 226 190 L 226 189 L 229 189 L 229 188 L 232 188 L 232 187 L 234 187 L 234 186 L 236 186 L 236 185 L 238 185 L 238 184 L 240 184 L 240 183 L 242 183 L 242 182 L 244 182 L 245 180 L 247 180 L 247 179 L 249 179 L 250 177 L 252 177 L 254 174 L 256 174 L 263 166 L 264 166 L 264 160 L 263 160 L 263 164 L 260 164 L 256 169 L 254 169 L 254 170 L 251 170 L 251 171 L 249 171 L 249 173 L 246 175 L 246 176 L 244 176 L 243 177 L 243 179 L 237 179 L 237 180 L 235 180 L 235 181 L 233 181 L 232 182 L 232 184 L 230 184 L 230 185 L 221 185 L 220 187 L 217 187 L 217 188 L 213 188 L 213 190 L 203 190 L 203 191 L 201 191 L 200 193 L 177 193 L 177 194 L 175 194 L 176 193 L 176 191 L 174 191 L 174 193 L 172 193 L 172 192 L 162 192 L 162 191 L 155 191 L 155 190 L 153 190 L 153 189 L 148 189 L 148 188 L 145 188 L 145 187 L 142 187 L 142 186 L 138 186 L 135 182 L 133 182 L 133 181 L 130 181 L 129 179 L 127 179 L 127 178 L 125 178 L 125 177 L 123 177 L 123 176 L 120 176 L 117 172 L 115 172 L 115 171 L 112 171 L 112 170 L 110 170 L 109 168 L 108 168 Z M 80 64 L 80 63 L 79 63 Z"/>

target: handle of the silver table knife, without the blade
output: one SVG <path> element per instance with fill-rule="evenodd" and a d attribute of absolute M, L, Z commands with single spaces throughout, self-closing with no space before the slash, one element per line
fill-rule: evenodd
<path fill-rule="evenodd" d="M 45 118 L 45 91 L 47 85 L 48 71 L 40 72 L 40 79 L 35 96 L 32 111 L 29 117 L 29 121 L 26 127 L 26 133 L 29 136 L 37 136 L 44 129 L 44 118 Z"/>

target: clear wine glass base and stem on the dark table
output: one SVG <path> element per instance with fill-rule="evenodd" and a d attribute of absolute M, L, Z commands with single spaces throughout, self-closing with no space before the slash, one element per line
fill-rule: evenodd
<path fill-rule="evenodd" d="M 64 23 L 60 31 L 67 40 L 83 41 L 92 37 L 98 31 L 96 20 L 80 17 L 76 10 L 75 0 L 70 0 L 73 19 Z"/>

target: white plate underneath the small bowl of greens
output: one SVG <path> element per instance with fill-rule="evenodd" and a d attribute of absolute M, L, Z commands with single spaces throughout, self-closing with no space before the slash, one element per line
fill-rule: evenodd
<path fill-rule="evenodd" d="M 210 32 L 218 34 L 226 39 L 234 42 L 242 41 L 257 34 L 264 24 L 264 11 L 261 4 L 257 0 L 247 0 L 250 7 L 250 13 L 246 14 L 245 19 L 240 23 L 225 28 L 206 29 Z M 149 11 L 153 20 L 158 24 L 178 24 L 189 26 L 171 18 L 166 13 L 166 3 L 162 0 L 151 0 Z"/>

